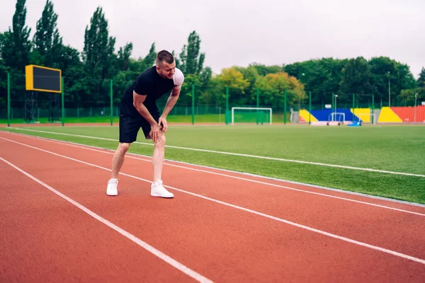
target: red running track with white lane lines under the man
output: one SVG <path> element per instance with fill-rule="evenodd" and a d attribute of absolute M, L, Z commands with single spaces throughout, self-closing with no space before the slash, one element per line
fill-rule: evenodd
<path fill-rule="evenodd" d="M 425 282 L 425 207 L 175 162 L 154 198 L 131 154 L 108 197 L 112 151 L 1 132 L 0 157 L 1 282 Z"/>

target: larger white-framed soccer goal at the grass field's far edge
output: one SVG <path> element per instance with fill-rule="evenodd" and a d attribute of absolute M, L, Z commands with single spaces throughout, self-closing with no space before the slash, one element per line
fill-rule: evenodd
<path fill-rule="evenodd" d="M 271 108 L 232 107 L 232 125 L 234 123 L 270 124 Z"/>

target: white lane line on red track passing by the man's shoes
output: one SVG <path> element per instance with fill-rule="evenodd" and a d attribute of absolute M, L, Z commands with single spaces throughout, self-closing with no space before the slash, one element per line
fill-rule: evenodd
<path fill-rule="evenodd" d="M 4 138 L 2 138 L 2 139 L 4 139 Z M 10 140 L 10 141 L 11 141 L 11 140 Z M 28 145 L 28 144 L 22 144 L 21 142 L 18 142 L 18 141 L 12 141 L 12 142 L 14 142 L 14 143 L 16 143 L 16 144 L 21 144 L 21 145 L 23 145 L 23 146 L 28 146 L 28 147 L 30 147 L 31 149 L 37 149 L 37 150 L 40 150 L 40 151 L 43 151 L 43 152 L 47 152 L 48 154 L 53 154 L 53 155 L 55 155 L 55 156 L 60 156 L 60 157 L 62 157 L 62 158 L 67 158 L 67 159 L 72 160 L 72 161 L 77 161 L 77 162 L 79 162 L 79 163 L 83 163 L 83 164 L 86 164 L 86 165 L 89 165 L 89 166 L 94 166 L 94 167 L 96 167 L 96 168 L 101 168 L 101 169 L 106 170 L 106 171 L 111 171 L 111 169 L 108 169 L 108 168 L 105 168 L 105 167 L 102 167 L 102 166 L 98 166 L 98 165 L 96 165 L 96 164 L 88 163 L 88 162 L 86 162 L 86 161 L 81 161 L 81 160 L 79 160 L 79 159 L 75 159 L 75 158 L 72 158 L 72 157 L 64 156 L 64 155 L 62 155 L 62 154 L 56 154 L 55 152 L 47 151 L 47 150 L 45 150 L 45 149 L 39 149 L 38 147 L 30 146 L 30 145 Z M 150 180 L 146 180 L 146 179 L 143 179 L 143 178 L 139 178 L 139 177 L 137 177 L 137 176 L 130 175 L 130 174 L 126 174 L 126 173 L 120 173 L 120 175 L 125 175 L 125 176 L 128 176 L 128 177 L 130 177 L 130 178 L 135 178 L 135 179 L 137 179 L 137 180 L 142 180 L 142 181 L 145 181 L 145 182 L 147 182 L 147 183 L 152 183 L 152 181 L 150 181 Z M 271 216 L 271 215 L 264 214 L 264 213 L 261 213 L 261 212 L 256 212 L 255 210 L 252 210 L 252 209 L 246 209 L 246 208 L 244 208 L 244 207 L 239 207 L 239 206 L 234 205 L 234 204 L 229 204 L 229 203 L 227 203 L 227 202 L 222 202 L 222 201 L 220 201 L 220 200 L 215 200 L 215 199 L 212 199 L 212 198 L 210 198 L 210 197 L 205 197 L 205 196 L 203 196 L 203 195 L 198 195 L 198 194 L 196 194 L 196 193 L 188 192 L 188 191 L 186 191 L 186 190 L 181 190 L 181 189 L 178 189 L 178 188 L 176 188 L 176 187 L 170 187 L 170 186 L 168 186 L 168 185 L 164 185 L 164 187 L 168 187 L 168 188 L 169 188 L 169 189 L 171 189 L 171 190 L 176 190 L 176 191 L 179 191 L 179 192 L 184 192 L 184 193 L 186 193 L 186 194 L 188 194 L 188 195 L 193 195 L 193 196 L 195 196 L 195 197 L 200 197 L 200 198 L 202 198 L 202 199 L 204 199 L 204 200 L 209 200 L 209 201 L 211 201 L 211 202 L 215 202 L 215 203 L 217 203 L 217 204 L 223 204 L 223 205 L 225 205 L 225 206 L 227 206 L 227 207 L 232 207 L 232 208 L 235 208 L 235 209 L 239 209 L 239 210 L 242 210 L 242 211 L 244 211 L 244 212 L 249 212 L 249 213 L 251 213 L 251 214 L 256 214 L 256 215 L 259 215 L 259 216 L 266 217 L 266 218 L 268 218 L 268 219 L 273 219 L 273 220 L 276 220 L 276 221 L 280 221 L 280 222 L 283 222 L 283 223 L 285 223 L 285 224 L 289 224 L 289 225 L 292 225 L 292 226 L 296 226 L 296 227 L 301 228 L 301 229 L 305 229 L 305 230 L 308 230 L 308 231 L 312 231 L 312 232 L 315 232 L 315 233 L 322 234 L 322 235 L 324 235 L 324 236 L 329 236 L 329 237 L 331 237 L 331 238 L 336 238 L 336 239 L 339 239 L 339 240 L 341 240 L 341 241 L 346 241 L 346 242 L 348 242 L 348 243 L 353 243 L 353 244 L 358 245 L 358 246 L 363 246 L 363 247 L 366 247 L 366 248 L 371 248 L 371 249 L 373 249 L 373 250 L 379 250 L 379 251 L 381 251 L 381 252 L 383 252 L 383 253 L 388 253 L 388 254 L 390 254 L 390 255 L 395 255 L 395 256 L 397 256 L 397 257 L 399 257 L 399 258 L 404 258 L 404 259 L 407 259 L 407 260 L 412 260 L 412 261 L 414 261 L 414 262 L 419 262 L 419 263 L 421 263 L 421 264 L 425 265 L 425 260 L 422 260 L 421 258 L 415 258 L 415 257 L 413 257 L 413 256 L 411 256 L 411 255 L 405 255 L 405 254 L 403 254 L 403 253 L 399 253 L 399 252 L 396 252 L 396 251 L 394 251 L 394 250 L 388 250 L 388 249 L 386 249 L 386 248 L 380 248 L 380 247 L 378 247 L 378 246 L 373 246 L 373 245 L 370 245 L 370 244 L 368 244 L 368 243 L 363 243 L 363 242 L 360 242 L 360 241 L 356 241 L 356 240 L 353 240 L 353 239 L 351 239 L 351 238 L 346 238 L 346 237 L 343 237 L 343 236 L 338 236 L 338 235 L 335 235 L 335 234 L 333 234 L 333 233 L 328 233 L 328 232 L 325 232 L 325 231 L 322 231 L 322 230 L 319 230 L 319 229 L 314 229 L 314 228 L 312 228 L 312 227 L 310 227 L 310 226 L 305 226 L 305 225 L 302 225 L 302 224 L 297 224 L 297 223 L 295 223 L 295 222 L 288 221 L 288 220 L 285 220 L 285 219 L 281 219 L 281 218 L 278 218 L 278 217 L 276 217 L 276 216 Z"/>

